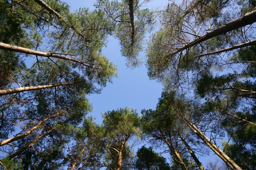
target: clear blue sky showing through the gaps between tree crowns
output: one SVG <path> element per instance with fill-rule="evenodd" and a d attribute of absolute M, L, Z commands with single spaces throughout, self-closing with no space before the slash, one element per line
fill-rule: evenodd
<path fill-rule="evenodd" d="M 62 0 L 70 6 L 70 11 L 75 11 L 80 7 L 88 7 L 90 10 L 95 9 L 93 4 L 95 0 Z M 168 0 L 155 0 L 147 4 L 147 8 L 156 9 L 163 8 L 168 3 Z M 157 27 L 156 29 L 157 30 Z M 149 39 L 149 33 L 146 39 Z M 144 46 L 146 47 L 146 45 Z M 92 104 L 93 112 L 90 113 L 96 118 L 96 122 L 101 124 L 101 113 L 108 110 L 116 110 L 117 108 L 133 107 L 137 109 L 137 113 L 140 114 L 142 109 L 155 109 L 158 102 L 158 98 L 161 97 L 163 85 L 155 80 L 149 80 L 147 75 L 147 68 L 143 64 L 139 68 L 129 69 L 125 65 L 125 58 L 122 57 L 120 52 L 120 46 L 117 39 L 109 37 L 109 42 L 106 48 L 102 49 L 102 54 L 106 55 L 110 61 L 112 61 L 118 68 L 118 77 L 113 79 L 113 84 L 108 83 L 103 88 L 100 94 L 91 94 L 87 96 L 89 102 Z M 142 53 L 142 57 L 145 58 L 145 53 Z M 134 148 L 136 152 L 143 144 Z M 221 145 L 221 144 L 220 144 Z M 161 152 L 159 149 L 155 149 L 156 152 Z M 170 163 L 170 155 L 168 153 L 163 154 Z M 217 158 L 213 153 L 208 157 L 200 157 L 200 161 L 205 166 L 205 163 L 209 159 Z M 206 167 L 206 166 L 205 166 Z"/>

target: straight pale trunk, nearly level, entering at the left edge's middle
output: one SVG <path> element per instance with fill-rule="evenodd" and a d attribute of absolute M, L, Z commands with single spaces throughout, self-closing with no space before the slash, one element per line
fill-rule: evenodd
<path fill-rule="evenodd" d="M 40 90 L 40 89 L 46 89 L 51 87 L 57 87 L 61 85 L 72 85 L 72 83 L 57 83 L 53 85 L 39 85 L 39 86 L 31 86 L 31 87 L 19 87 L 15 89 L 5 89 L 0 90 L 0 96 L 7 95 L 7 94 L 13 94 L 13 93 L 19 93 L 19 92 L 27 92 L 31 90 Z"/>

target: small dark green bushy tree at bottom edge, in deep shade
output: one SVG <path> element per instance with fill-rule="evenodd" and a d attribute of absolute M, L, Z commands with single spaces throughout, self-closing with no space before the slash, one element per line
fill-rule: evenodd
<path fill-rule="evenodd" d="M 134 160 L 134 169 L 151 170 L 162 169 L 170 170 L 169 164 L 163 156 L 153 151 L 152 147 L 146 148 L 145 145 L 138 149 Z"/>

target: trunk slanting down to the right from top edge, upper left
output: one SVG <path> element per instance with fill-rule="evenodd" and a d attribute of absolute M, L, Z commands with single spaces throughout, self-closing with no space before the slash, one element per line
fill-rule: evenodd
<path fill-rule="evenodd" d="M 90 42 L 91 40 L 86 38 L 82 33 L 80 33 L 80 31 L 77 30 L 77 28 L 75 26 L 73 26 L 72 24 L 70 24 L 67 20 L 65 20 L 60 14 L 58 14 L 56 11 L 54 11 L 50 6 L 48 6 L 47 4 L 45 4 L 42 0 L 34 0 L 37 4 L 39 4 L 42 8 L 46 9 L 46 11 L 50 12 L 51 14 L 55 15 L 58 19 L 64 21 L 67 26 L 69 26 L 70 28 L 72 28 L 78 35 L 80 35 L 81 37 L 84 38 L 84 40 L 86 42 Z"/>

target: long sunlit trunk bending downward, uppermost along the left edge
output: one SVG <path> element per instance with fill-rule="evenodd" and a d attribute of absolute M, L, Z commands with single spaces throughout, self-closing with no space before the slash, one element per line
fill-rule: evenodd
<path fill-rule="evenodd" d="M 36 56 L 42 56 L 42 57 L 54 57 L 54 58 L 59 58 L 62 60 L 68 60 L 68 61 L 73 61 L 79 64 L 82 64 L 86 67 L 90 67 L 93 69 L 100 69 L 98 67 L 93 67 L 91 65 L 85 64 L 79 60 L 76 60 L 74 58 L 71 57 L 65 57 L 62 55 L 58 55 L 58 54 L 53 54 L 53 53 L 45 53 L 45 52 L 41 52 L 41 51 L 35 51 L 32 49 L 28 49 L 28 48 L 23 48 L 23 47 L 19 47 L 19 46 L 14 46 L 14 45 L 10 45 L 10 44 L 5 44 L 0 42 L 0 49 L 5 49 L 5 50 L 9 50 L 9 51 L 15 51 L 15 52 L 19 52 L 19 53 L 24 53 L 24 54 L 31 54 L 31 55 L 36 55 Z"/>

